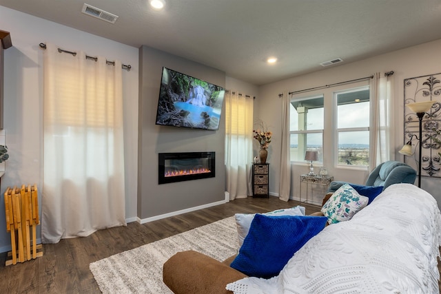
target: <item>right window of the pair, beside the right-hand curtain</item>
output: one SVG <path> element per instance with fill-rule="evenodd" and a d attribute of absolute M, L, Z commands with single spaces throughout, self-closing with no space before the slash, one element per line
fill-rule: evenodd
<path fill-rule="evenodd" d="M 369 166 L 369 87 L 334 93 L 337 165 Z"/>

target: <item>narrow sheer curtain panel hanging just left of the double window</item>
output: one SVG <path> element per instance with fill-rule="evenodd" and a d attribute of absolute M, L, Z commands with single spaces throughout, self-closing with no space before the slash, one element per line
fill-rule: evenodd
<path fill-rule="evenodd" d="M 289 158 L 289 97 L 288 91 L 282 96 L 282 134 L 280 147 L 280 182 L 278 198 L 283 201 L 289 200 L 291 189 L 291 158 Z"/>

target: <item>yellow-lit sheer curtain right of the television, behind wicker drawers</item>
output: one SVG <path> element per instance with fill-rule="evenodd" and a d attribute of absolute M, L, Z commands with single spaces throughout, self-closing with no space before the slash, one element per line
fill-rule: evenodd
<path fill-rule="evenodd" d="M 253 98 L 227 91 L 225 94 L 225 167 L 229 200 L 252 194 Z"/>

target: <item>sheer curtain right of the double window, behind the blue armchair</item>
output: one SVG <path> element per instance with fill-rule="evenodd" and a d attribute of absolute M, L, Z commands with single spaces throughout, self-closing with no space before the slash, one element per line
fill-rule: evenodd
<path fill-rule="evenodd" d="M 393 75 L 377 72 L 371 78 L 371 127 L 369 172 L 381 162 L 395 160 L 393 150 Z"/>

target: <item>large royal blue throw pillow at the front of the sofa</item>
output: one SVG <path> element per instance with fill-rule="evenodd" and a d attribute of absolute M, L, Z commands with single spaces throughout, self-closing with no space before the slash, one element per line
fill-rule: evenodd
<path fill-rule="evenodd" d="M 230 266 L 250 277 L 274 277 L 298 249 L 325 228 L 326 222 L 325 216 L 256 214 Z"/>

